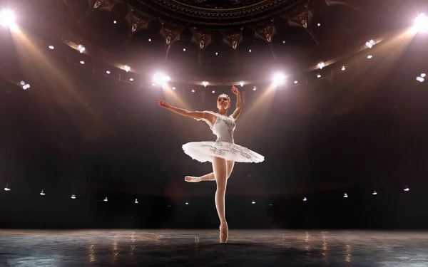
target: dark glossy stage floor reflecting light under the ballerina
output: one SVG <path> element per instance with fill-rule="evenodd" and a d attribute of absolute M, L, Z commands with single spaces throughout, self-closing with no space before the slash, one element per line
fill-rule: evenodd
<path fill-rule="evenodd" d="M 428 266 L 428 232 L 0 230 L 0 267 Z"/>

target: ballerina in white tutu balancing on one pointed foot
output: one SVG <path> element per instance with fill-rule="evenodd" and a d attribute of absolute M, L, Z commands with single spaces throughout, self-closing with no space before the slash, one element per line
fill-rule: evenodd
<path fill-rule="evenodd" d="M 203 120 L 217 135 L 215 141 L 188 142 L 183 145 L 185 154 L 199 162 L 212 162 L 213 172 L 201 177 L 186 176 L 187 182 L 215 181 L 217 190 L 215 191 L 215 208 L 220 219 L 220 243 L 228 241 L 228 223 L 225 217 L 225 192 L 227 181 L 232 173 L 235 162 L 263 162 L 265 158 L 246 147 L 236 145 L 233 140 L 235 130 L 235 120 L 241 112 L 240 92 L 235 85 L 232 85 L 232 92 L 236 95 L 236 109 L 232 115 L 228 116 L 230 108 L 230 97 L 221 94 L 217 99 L 218 113 L 212 111 L 189 111 L 182 108 L 175 108 L 168 103 L 157 100 L 162 108 L 171 110 L 185 117 L 192 117 L 195 120 Z"/>

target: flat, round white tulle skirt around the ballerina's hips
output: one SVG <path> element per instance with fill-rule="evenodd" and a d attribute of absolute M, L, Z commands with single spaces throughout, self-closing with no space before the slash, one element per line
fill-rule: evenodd
<path fill-rule="evenodd" d="M 232 142 L 188 142 L 183 145 L 183 150 L 185 154 L 199 162 L 212 162 L 213 157 L 222 157 L 234 162 L 259 163 L 265 160 L 262 155 Z"/>

